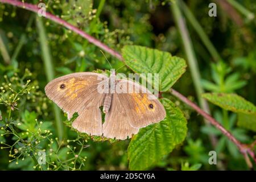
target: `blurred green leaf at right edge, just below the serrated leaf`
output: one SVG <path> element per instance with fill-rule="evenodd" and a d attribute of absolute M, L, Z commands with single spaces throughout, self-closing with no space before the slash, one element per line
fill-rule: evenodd
<path fill-rule="evenodd" d="M 238 113 L 237 125 L 248 130 L 256 131 L 256 114 Z"/>

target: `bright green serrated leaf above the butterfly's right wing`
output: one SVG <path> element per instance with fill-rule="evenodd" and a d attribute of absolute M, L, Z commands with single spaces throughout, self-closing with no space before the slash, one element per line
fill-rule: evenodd
<path fill-rule="evenodd" d="M 136 73 L 159 73 L 159 90 L 163 92 L 175 84 L 187 67 L 180 57 L 142 46 L 125 46 L 122 56 Z"/>

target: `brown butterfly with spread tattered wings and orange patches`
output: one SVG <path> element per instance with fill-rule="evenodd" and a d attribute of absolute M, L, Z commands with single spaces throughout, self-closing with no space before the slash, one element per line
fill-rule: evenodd
<path fill-rule="evenodd" d="M 129 92 L 123 92 L 127 88 Z M 61 76 L 49 82 L 45 92 L 68 114 L 68 119 L 78 113 L 72 127 L 89 135 L 124 140 L 137 134 L 141 127 L 166 117 L 166 110 L 154 94 L 138 82 L 118 79 L 114 71 L 110 77 L 93 72 Z"/>

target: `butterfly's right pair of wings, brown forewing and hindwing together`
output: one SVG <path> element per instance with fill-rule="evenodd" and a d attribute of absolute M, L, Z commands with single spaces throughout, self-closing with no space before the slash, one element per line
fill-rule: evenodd
<path fill-rule="evenodd" d="M 130 80 L 118 80 L 112 105 L 105 116 L 105 137 L 126 139 L 138 133 L 139 128 L 162 121 L 166 110 L 144 86 Z M 132 91 L 131 91 L 132 90 Z M 151 99 L 150 99 L 151 98 Z"/>

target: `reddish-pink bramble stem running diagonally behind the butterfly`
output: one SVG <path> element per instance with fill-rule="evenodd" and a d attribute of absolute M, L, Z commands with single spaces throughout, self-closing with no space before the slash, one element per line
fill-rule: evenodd
<path fill-rule="evenodd" d="M 15 0 L 0 0 L 2 3 L 7 3 L 13 6 L 17 7 L 22 7 L 24 9 L 34 11 L 35 13 L 38 12 L 38 7 L 35 5 L 31 5 L 29 3 L 23 3 L 20 1 L 15 1 Z M 58 18 L 55 15 L 52 15 L 50 13 L 46 13 L 46 18 L 51 19 L 53 22 L 56 22 L 58 24 L 61 24 L 62 26 L 72 30 L 73 32 L 76 32 L 77 34 L 81 35 L 83 38 L 88 40 L 90 43 L 104 49 L 106 52 L 110 53 L 110 55 L 116 57 L 117 59 L 123 61 L 122 55 L 120 55 L 117 51 L 113 50 L 112 48 L 106 46 L 104 43 L 100 42 L 100 40 L 97 40 L 96 38 L 93 38 L 92 36 L 86 34 L 84 31 L 79 30 L 79 28 L 73 26 L 72 24 L 69 24 L 65 22 L 63 19 Z M 253 158 L 255 164 L 256 164 L 256 157 L 251 149 L 251 146 L 254 146 L 256 144 L 256 141 L 253 142 L 252 144 L 243 144 L 240 141 L 238 141 L 229 131 L 227 131 L 220 123 L 218 123 L 213 117 L 211 117 L 209 114 L 207 114 L 204 110 L 200 109 L 199 106 L 194 104 L 192 101 L 188 100 L 185 96 L 180 94 L 174 89 L 170 90 L 171 94 L 174 95 L 175 97 L 179 98 L 181 101 L 183 101 L 185 104 L 191 106 L 194 110 L 197 111 L 200 115 L 202 115 L 205 119 L 207 119 L 213 126 L 215 126 L 218 130 L 221 131 L 226 137 L 228 137 L 240 150 L 241 154 L 245 157 L 246 163 L 249 167 L 251 167 L 250 160 L 248 159 L 247 155 L 250 155 L 251 158 Z"/>

